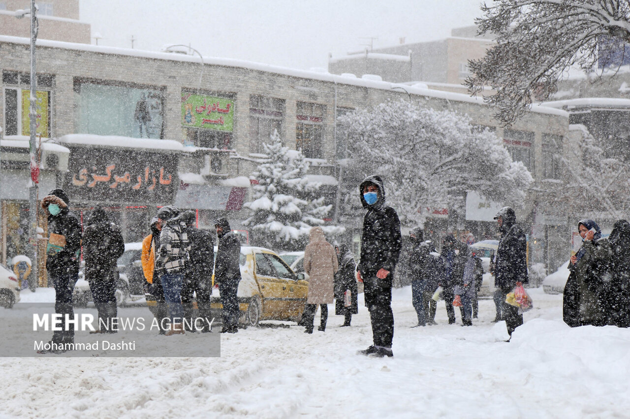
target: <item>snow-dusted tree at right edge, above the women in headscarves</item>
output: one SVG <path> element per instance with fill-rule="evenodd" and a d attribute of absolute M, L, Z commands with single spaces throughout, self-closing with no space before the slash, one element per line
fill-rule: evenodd
<path fill-rule="evenodd" d="M 572 159 L 563 158 L 566 186 L 558 198 L 573 202 L 576 213 L 606 211 L 612 218 L 625 218 L 630 211 L 630 163 L 606 157 L 600 140 L 587 130 Z"/>

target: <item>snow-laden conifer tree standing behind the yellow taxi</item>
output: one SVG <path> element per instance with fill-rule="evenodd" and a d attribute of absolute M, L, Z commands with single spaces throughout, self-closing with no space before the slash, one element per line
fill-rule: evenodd
<path fill-rule="evenodd" d="M 326 233 L 343 232 L 324 225 L 332 205 L 317 196 L 321 184 L 307 179 L 309 162 L 304 154 L 284 147 L 277 131 L 263 148 L 268 159 L 253 172 L 253 201 L 244 204 L 252 215 L 243 225 L 251 228 L 254 241 L 273 249 L 304 249 L 312 226 L 321 226 Z"/>

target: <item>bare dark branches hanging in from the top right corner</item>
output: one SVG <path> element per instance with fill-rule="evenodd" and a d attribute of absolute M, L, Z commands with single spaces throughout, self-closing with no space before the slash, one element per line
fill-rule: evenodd
<path fill-rule="evenodd" d="M 498 108 L 505 125 L 522 116 L 532 98 L 551 98 L 570 67 L 592 71 L 598 60 L 614 62 L 630 42 L 628 0 L 496 0 L 481 10 L 479 32 L 493 33 L 496 45 L 469 61 L 474 75 L 465 84 L 473 94 L 487 86 L 496 91 L 484 100 Z"/>

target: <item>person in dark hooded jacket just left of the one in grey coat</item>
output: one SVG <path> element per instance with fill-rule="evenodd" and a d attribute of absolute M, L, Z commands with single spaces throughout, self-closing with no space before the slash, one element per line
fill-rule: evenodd
<path fill-rule="evenodd" d="M 442 260 L 444 261 L 444 279 L 440 286 L 444 291 L 444 304 L 446 313 L 449 316 L 449 325 L 455 324 L 455 309 L 453 300 L 455 299 L 455 286 L 461 284 L 464 277 L 464 266 L 466 266 L 468 247 L 460 242 L 453 234 L 448 234 L 442 240 Z"/>

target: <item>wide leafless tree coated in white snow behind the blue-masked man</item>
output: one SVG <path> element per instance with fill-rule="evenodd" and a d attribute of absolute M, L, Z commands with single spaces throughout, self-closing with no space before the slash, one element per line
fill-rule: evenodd
<path fill-rule="evenodd" d="M 467 191 L 521 203 L 532 182 L 495 133 L 453 111 L 390 101 L 340 119 L 353 138 L 348 176 L 381 174 L 387 201 L 408 225 L 422 223 L 427 207 L 463 211 Z"/>

